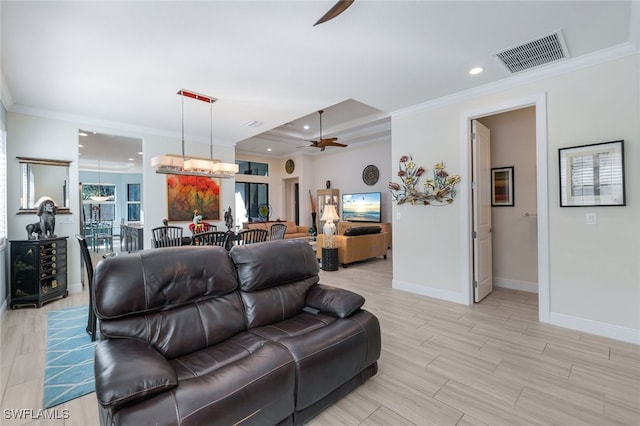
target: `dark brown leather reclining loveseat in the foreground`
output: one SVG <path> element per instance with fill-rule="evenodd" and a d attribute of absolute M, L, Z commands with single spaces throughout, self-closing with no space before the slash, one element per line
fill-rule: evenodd
<path fill-rule="evenodd" d="M 94 296 L 102 425 L 302 424 L 377 372 L 378 320 L 303 240 L 114 256 Z"/>

